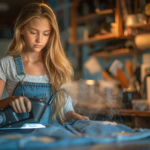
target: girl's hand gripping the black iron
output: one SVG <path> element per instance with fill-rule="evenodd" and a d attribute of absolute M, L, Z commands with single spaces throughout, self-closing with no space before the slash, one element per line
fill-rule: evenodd
<path fill-rule="evenodd" d="M 27 97 L 10 96 L 8 97 L 7 102 L 16 113 L 26 113 L 27 111 L 31 111 L 31 101 Z"/>

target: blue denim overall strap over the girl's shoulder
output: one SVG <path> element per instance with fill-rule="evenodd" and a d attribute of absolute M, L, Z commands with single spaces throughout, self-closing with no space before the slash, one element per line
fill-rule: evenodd
<path fill-rule="evenodd" d="M 14 60 L 15 60 L 15 63 L 16 63 L 18 76 L 25 75 L 21 56 L 20 55 L 15 55 Z"/>

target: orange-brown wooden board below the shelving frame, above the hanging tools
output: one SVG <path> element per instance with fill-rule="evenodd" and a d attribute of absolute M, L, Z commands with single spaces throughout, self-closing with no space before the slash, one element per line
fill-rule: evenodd
<path fill-rule="evenodd" d="M 100 58 L 116 58 L 116 57 L 132 56 L 132 55 L 135 54 L 128 48 L 112 50 L 111 52 L 107 52 L 107 51 L 95 52 L 91 54 L 91 56 L 97 56 Z"/>

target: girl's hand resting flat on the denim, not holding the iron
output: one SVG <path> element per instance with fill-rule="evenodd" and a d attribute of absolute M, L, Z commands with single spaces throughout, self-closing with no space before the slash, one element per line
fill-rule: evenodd
<path fill-rule="evenodd" d="M 87 116 L 82 116 L 80 114 L 75 113 L 74 111 L 69 111 L 66 113 L 67 121 L 74 120 L 90 120 Z"/>

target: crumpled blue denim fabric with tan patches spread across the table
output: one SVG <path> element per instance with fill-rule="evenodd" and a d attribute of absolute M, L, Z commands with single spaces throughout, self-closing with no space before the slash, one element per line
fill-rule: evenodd
<path fill-rule="evenodd" d="M 131 128 L 105 121 L 72 120 L 60 125 L 49 125 L 44 129 L 36 129 L 31 133 L 2 134 L 0 131 L 0 148 L 46 149 L 67 146 L 117 143 L 140 140 L 150 137 L 150 130 L 135 132 Z M 138 141 L 137 141 L 138 142 Z M 9 143 L 9 144 L 7 144 Z"/>

